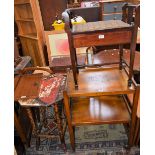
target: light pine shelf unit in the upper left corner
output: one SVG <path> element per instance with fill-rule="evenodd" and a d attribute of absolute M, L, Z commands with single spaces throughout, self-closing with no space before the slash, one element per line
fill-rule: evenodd
<path fill-rule="evenodd" d="M 45 39 L 38 0 L 15 0 L 14 4 L 23 54 L 31 56 L 34 66 L 45 66 Z"/>

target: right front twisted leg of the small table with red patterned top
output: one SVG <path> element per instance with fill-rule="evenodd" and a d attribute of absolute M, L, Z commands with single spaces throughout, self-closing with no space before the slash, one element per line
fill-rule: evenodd
<path fill-rule="evenodd" d="M 61 141 L 61 144 L 63 145 L 64 151 L 66 152 L 66 144 L 65 144 L 65 137 L 64 137 L 64 133 L 63 133 L 63 125 L 62 125 L 62 120 L 60 118 L 57 103 L 54 104 L 54 112 L 55 112 L 57 127 L 58 127 L 58 130 L 59 130 L 60 141 Z"/>

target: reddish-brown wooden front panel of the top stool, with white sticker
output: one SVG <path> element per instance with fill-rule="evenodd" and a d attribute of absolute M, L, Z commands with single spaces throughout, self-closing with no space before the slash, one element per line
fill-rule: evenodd
<path fill-rule="evenodd" d="M 126 44 L 131 42 L 131 36 L 131 30 L 78 34 L 73 36 L 73 44 L 75 48 Z"/>

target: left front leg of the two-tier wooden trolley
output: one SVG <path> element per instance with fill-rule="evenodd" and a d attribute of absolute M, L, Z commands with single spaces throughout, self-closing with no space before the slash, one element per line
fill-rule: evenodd
<path fill-rule="evenodd" d="M 70 103 L 69 103 L 69 97 L 67 95 L 67 92 L 64 92 L 64 105 L 65 105 L 65 112 L 66 112 L 66 118 L 68 123 L 68 131 L 70 136 L 70 143 L 73 151 L 75 151 L 75 135 L 73 131 L 73 126 L 71 122 L 71 113 L 70 113 Z"/>

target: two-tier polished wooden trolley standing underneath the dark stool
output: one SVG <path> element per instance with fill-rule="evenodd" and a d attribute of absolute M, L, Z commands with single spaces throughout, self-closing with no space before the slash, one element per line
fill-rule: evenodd
<path fill-rule="evenodd" d="M 127 123 L 129 146 L 133 145 L 139 85 L 133 81 L 129 87 L 127 79 L 127 72 L 118 67 L 85 68 L 79 71 L 75 87 L 73 73 L 68 70 L 64 105 L 73 150 L 74 127 L 80 125 Z M 127 94 L 134 95 L 132 107 Z"/>

